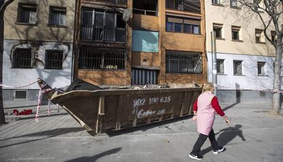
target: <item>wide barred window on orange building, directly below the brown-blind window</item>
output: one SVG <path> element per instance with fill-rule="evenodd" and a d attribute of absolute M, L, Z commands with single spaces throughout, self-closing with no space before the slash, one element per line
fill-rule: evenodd
<path fill-rule="evenodd" d="M 166 72 L 202 73 L 200 53 L 166 51 Z"/>

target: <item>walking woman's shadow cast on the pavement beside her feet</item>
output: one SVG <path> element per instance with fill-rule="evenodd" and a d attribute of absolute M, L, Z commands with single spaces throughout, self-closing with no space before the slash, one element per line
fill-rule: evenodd
<path fill-rule="evenodd" d="M 232 141 L 237 136 L 239 136 L 242 139 L 242 141 L 245 141 L 243 132 L 240 129 L 241 127 L 242 127 L 241 124 L 237 124 L 234 127 L 230 126 L 226 129 L 221 129 L 219 132 L 215 133 L 215 135 L 219 134 L 217 138 L 218 145 L 225 147 L 230 141 Z M 213 150 L 213 148 L 210 146 L 208 148 L 205 148 L 204 150 L 201 150 L 200 154 L 204 155 L 210 152 L 211 150 Z"/>

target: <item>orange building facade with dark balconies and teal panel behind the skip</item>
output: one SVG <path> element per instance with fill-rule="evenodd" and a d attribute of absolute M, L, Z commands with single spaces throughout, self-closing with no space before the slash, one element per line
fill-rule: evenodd
<path fill-rule="evenodd" d="M 96 85 L 206 82 L 204 1 L 79 0 L 74 75 Z"/>

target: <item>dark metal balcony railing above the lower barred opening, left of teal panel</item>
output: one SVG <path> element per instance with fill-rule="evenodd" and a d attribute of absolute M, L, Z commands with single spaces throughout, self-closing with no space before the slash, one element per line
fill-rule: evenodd
<path fill-rule="evenodd" d="M 126 29 L 121 27 L 97 27 L 83 25 L 81 40 L 98 42 L 126 42 Z"/>

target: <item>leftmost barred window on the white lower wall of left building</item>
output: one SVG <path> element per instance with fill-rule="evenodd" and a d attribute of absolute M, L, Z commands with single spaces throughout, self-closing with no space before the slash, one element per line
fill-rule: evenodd
<path fill-rule="evenodd" d="M 15 49 L 12 68 L 31 68 L 31 49 Z"/>

